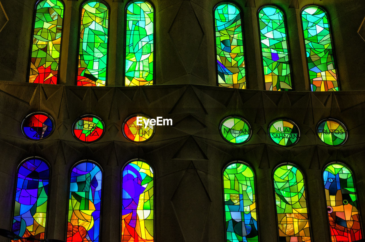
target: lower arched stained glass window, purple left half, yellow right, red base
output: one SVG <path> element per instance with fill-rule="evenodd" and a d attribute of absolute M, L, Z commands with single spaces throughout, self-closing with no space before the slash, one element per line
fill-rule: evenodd
<path fill-rule="evenodd" d="M 122 176 L 122 242 L 153 242 L 153 170 L 142 160 L 132 160 Z"/>

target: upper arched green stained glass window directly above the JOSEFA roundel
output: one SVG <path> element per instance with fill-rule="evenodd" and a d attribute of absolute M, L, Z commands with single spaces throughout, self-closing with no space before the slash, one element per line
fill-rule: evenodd
<path fill-rule="evenodd" d="M 105 86 L 107 80 L 109 8 L 88 1 L 81 8 L 77 86 Z"/>

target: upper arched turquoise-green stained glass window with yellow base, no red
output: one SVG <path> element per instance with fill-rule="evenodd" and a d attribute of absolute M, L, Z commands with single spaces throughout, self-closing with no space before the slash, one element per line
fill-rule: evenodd
<path fill-rule="evenodd" d="M 154 82 L 154 10 L 146 1 L 132 1 L 126 11 L 125 86 Z"/>

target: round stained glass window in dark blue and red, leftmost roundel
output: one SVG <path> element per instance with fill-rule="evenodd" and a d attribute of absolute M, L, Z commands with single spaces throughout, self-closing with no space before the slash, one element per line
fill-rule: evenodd
<path fill-rule="evenodd" d="M 53 118 L 43 112 L 31 113 L 22 122 L 24 136 L 32 140 L 41 140 L 50 136 L 54 130 Z"/>

